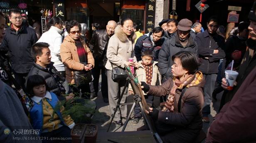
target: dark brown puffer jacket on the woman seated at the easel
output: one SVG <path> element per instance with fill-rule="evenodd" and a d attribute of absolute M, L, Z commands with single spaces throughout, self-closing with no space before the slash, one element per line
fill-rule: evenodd
<path fill-rule="evenodd" d="M 192 75 L 192 78 L 187 81 L 187 85 L 185 84 L 187 89 L 181 97 L 180 107 L 178 105 L 178 101 L 180 99 L 182 89 L 177 88 L 173 103 L 174 112 L 159 111 L 157 119 L 158 122 L 166 126 L 171 125 L 176 127 L 176 130 L 167 133 L 165 136 L 175 136 L 175 131 L 178 130 L 180 132 L 179 136 L 175 136 L 175 138 L 180 138 L 182 140 L 179 141 L 180 143 L 190 143 L 191 140 L 198 136 L 199 131 L 203 126 L 202 107 L 204 105 L 204 82 L 203 74 L 201 72 L 197 72 Z M 173 79 L 168 79 L 165 83 L 162 83 L 161 86 L 150 85 L 148 94 L 154 96 L 168 95 L 170 94 L 174 84 Z M 183 87 L 183 89 L 184 88 L 185 87 Z M 187 133 L 189 133 L 190 136 L 188 136 Z"/>

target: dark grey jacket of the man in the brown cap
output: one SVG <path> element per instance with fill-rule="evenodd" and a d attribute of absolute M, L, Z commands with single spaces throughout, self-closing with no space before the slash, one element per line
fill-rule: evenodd
<path fill-rule="evenodd" d="M 165 42 L 163 43 L 162 48 L 159 51 L 158 55 L 158 67 L 160 74 L 164 76 L 163 80 L 166 81 L 166 79 L 172 76 L 172 56 L 180 51 L 193 52 L 195 55 L 198 56 L 197 45 L 194 43 L 193 38 L 191 36 L 185 48 L 181 45 L 179 37 L 177 35 L 165 40 Z"/>

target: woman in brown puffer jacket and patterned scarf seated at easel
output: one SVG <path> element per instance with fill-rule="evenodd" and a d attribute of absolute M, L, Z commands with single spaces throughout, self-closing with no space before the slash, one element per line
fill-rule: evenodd
<path fill-rule="evenodd" d="M 146 111 L 155 122 L 155 128 L 164 143 L 190 143 L 199 135 L 204 105 L 202 72 L 198 72 L 198 59 L 192 52 L 178 52 L 172 56 L 173 79 L 161 86 L 141 82 L 141 88 L 149 95 L 169 94 L 162 110 Z"/>

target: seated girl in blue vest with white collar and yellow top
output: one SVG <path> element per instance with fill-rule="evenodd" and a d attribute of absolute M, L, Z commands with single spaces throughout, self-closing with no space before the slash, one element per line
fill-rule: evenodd
<path fill-rule="evenodd" d="M 71 138 L 71 129 L 75 123 L 70 116 L 62 117 L 60 110 L 54 112 L 54 107 L 59 100 L 57 95 L 47 91 L 44 78 L 40 75 L 29 76 L 27 91 L 34 102 L 30 110 L 30 122 L 34 129 L 39 130 L 39 136 L 48 139 L 51 137 Z M 42 140 L 42 142 L 47 142 L 47 140 Z M 63 142 L 71 143 L 71 140 Z"/>

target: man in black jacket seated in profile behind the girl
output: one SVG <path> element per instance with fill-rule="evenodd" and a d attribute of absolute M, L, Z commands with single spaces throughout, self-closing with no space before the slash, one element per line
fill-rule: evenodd
<path fill-rule="evenodd" d="M 42 76 L 47 83 L 49 91 L 55 93 L 59 100 L 64 100 L 65 98 L 62 94 L 65 94 L 68 89 L 65 89 L 63 85 L 67 84 L 67 82 L 53 66 L 54 63 L 51 62 L 51 53 L 48 47 L 49 44 L 43 42 L 32 45 L 31 55 L 34 57 L 35 62 L 27 78 L 35 74 Z M 67 100 L 69 98 L 71 97 L 66 97 Z"/>

